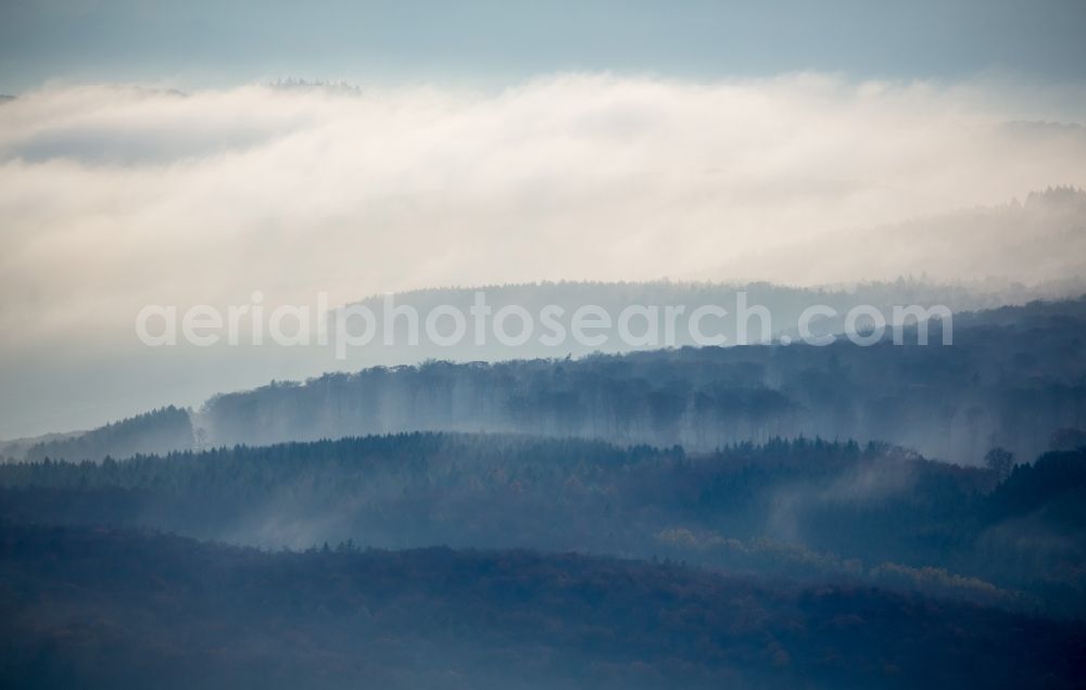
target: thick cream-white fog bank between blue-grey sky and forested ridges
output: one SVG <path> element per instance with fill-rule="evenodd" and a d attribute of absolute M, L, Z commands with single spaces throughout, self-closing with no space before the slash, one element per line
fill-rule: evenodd
<path fill-rule="evenodd" d="M 0 383 L 42 387 L 63 366 L 56 391 L 98 399 L 106 379 L 166 368 L 138 347 L 141 307 L 254 291 L 270 307 L 561 279 L 1073 279 L 1082 195 L 1027 194 L 1086 187 L 1086 98 L 1047 89 L 817 74 L 47 86 L 0 103 Z M 213 363 L 229 362 L 178 362 L 188 373 L 156 385 L 188 391 Z"/>

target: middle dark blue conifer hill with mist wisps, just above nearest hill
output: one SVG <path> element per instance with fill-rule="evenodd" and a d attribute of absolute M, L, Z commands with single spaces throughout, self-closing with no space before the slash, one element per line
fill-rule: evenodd
<path fill-rule="evenodd" d="M 699 455 L 407 434 L 0 467 L 0 520 L 17 524 L 657 555 L 1086 616 L 1083 506 L 1082 450 L 1002 475 L 804 439 Z"/>

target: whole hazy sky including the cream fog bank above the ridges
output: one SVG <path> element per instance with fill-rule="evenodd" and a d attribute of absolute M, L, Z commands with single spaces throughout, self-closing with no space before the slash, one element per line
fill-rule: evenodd
<path fill-rule="evenodd" d="M 1007 209 L 1086 187 L 1083 7 L 2 2 L 0 437 L 283 378 L 146 304 L 1075 277 Z"/>

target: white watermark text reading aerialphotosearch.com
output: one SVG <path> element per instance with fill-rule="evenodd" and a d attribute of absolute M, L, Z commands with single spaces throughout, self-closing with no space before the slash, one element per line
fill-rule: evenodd
<path fill-rule="evenodd" d="M 375 305 L 376 306 L 376 305 Z M 790 329 L 774 337 L 771 310 L 749 304 L 746 292 L 735 293 L 734 304 L 637 305 L 607 309 L 585 304 L 570 308 L 556 304 L 534 310 L 516 304 L 495 307 L 484 291 L 477 291 L 470 306 L 441 304 L 418 308 L 396 304 L 384 295 L 380 308 L 352 304 L 328 308 L 327 293 L 315 305 L 264 304 L 254 292 L 248 304 L 217 308 L 195 305 L 147 305 L 136 316 L 136 335 L 151 347 L 186 343 L 198 347 L 214 345 L 266 345 L 282 347 L 332 347 L 338 359 L 352 349 L 374 345 L 438 347 L 498 344 L 519 347 L 530 342 L 545 347 L 576 345 L 580 349 L 618 344 L 621 348 L 749 345 L 775 342 L 788 345 L 829 345 L 845 337 L 855 345 L 882 342 L 887 331 L 897 345 L 906 342 L 907 329 L 914 328 L 914 342 L 927 345 L 929 324 L 942 322 L 942 345 L 952 344 L 950 309 L 943 305 L 894 306 L 880 309 L 856 305 L 843 314 L 824 304 L 808 306 Z M 819 322 L 839 323 L 839 335 L 816 329 Z M 616 340 L 617 338 L 617 340 Z"/>

